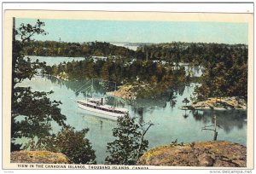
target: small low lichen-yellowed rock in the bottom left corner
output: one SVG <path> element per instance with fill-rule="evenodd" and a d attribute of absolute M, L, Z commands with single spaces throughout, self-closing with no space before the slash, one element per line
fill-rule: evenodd
<path fill-rule="evenodd" d="M 10 155 L 11 163 L 68 164 L 64 154 L 49 151 L 15 151 Z"/>

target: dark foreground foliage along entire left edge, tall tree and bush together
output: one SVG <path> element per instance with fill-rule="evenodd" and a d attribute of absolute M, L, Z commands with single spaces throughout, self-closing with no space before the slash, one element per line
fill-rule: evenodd
<path fill-rule="evenodd" d="M 15 21 L 14 21 L 15 23 Z M 37 21 L 15 29 L 13 38 L 13 68 L 12 68 L 12 114 L 11 114 L 11 151 L 24 149 L 61 152 L 66 154 L 73 163 L 95 164 L 95 151 L 84 136 L 87 129 L 74 131 L 65 124 L 66 116 L 61 114 L 61 102 L 50 101 L 48 96 L 53 93 L 32 91 L 30 87 L 20 87 L 24 79 L 31 79 L 38 67 L 44 64 L 31 62 L 24 58 L 24 45 L 31 41 L 34 34 L 46 34 L 42 27 L 44 22 Z M 21 38 L 21 41 L 16 41 Z M 53 122 L 62 127 L 57 136 L 51 133 Z M 17 144 L 17 138 L 26 138 L 26 144 Z M 74 143 L 76 142 L 76 143 Z"/>

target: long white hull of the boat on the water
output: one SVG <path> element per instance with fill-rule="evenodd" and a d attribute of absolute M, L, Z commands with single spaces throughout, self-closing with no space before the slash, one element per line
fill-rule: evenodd
<path fill-rule="evenodd" d="M 98 117 L 102 117 L 102 118 L 105 118 L 105 119 L 117 120 L 119 117 L 124 117 L 125 116 L 125 113 L 113 113 L 113 112 L 103 111 L 99 108 L 87 107 L 87 106 L 84 106 L 83 104 L 80 104 L 79 102 L 77 102 L 77 103 L 78 103 L 78 106 L 80 108 L 82 108 L 86 111 L 89 111 L 93 115 L 96 115 Z"/>

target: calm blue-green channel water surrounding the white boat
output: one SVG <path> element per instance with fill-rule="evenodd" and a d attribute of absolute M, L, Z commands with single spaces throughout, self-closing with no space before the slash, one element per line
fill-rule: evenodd
<path fill-rule="evenodd" d="M 107 143 L 113 142 L 112 130 L 116 122 L 108 119 L 98 118 L 80 109 L 73 100 L 83 99 L 83 94 L 75 93 L 84 81 L 63 82 L 54 77 L 36 76 L 31 80 L 25 80 L 20 86 L 31 86 L 32 90 L 49 91 L 51 100 L 61 101 L 61 113 L 67 116 L 66 123 L 75 127 L 77 131 L 89 128 L 86 137 L 90 140 L 92 147 L 96 150 L 96 161 L 103 164 L 107 156 Z M 90 83 L 88 84 L 90 85 Z M 106 96 L 105 92 L 113 90 L 102 87 L 103 84 L 95 82 L 94 96 Z M 212 116 L 217 116 L 218 140 L 237 142 L 246 146 L 247 144 L 247 113 L 246 112 L 198 112 L 191 113 L 183 111 L 178 107 L 183 105 L 183 99 L 193 94 L 196 84 L 179 86 L 170 89 L 165 94 L 154 99 L 137 100 L 136 102 L 125 102 L 119 100 L 122 106 L 129 110 L 131 117 L 136 117 L 138 122 L 152 122 L 145 138 L 148 139 L 149 148 L 168 144 L 177 139 L 178 142 L 210 141 L 213 138 L 212 131 L 201 131 L 206 125 L 213 125 Z M 86 88 L 86 86 L 84 87 Z M 177 96 L 176 103 L 170 100 L 171 96 Z M 111 100 L 108 100 L 111 102 Z M 120 105 L 120 103 L 119 103 Z M 60 128 L 53 124 L 54 131 Z"/>

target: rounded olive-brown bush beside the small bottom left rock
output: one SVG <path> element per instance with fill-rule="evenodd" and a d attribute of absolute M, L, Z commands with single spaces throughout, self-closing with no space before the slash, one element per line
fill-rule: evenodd
<path fill-rule="evenodd" d="M 88 131 L 89 129 L 74 131 L 70 126 L 62 128 L 56 136 L 49 137 L 45 149 L 67 155 L 74 164 L 96 164 L 95 151 L 85 138 Z"/>

